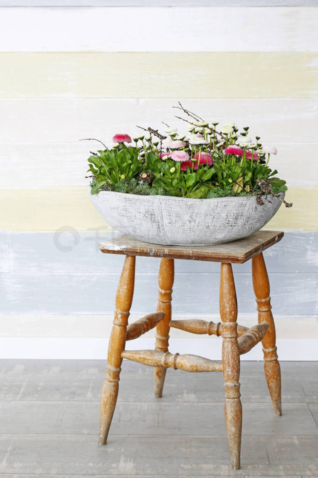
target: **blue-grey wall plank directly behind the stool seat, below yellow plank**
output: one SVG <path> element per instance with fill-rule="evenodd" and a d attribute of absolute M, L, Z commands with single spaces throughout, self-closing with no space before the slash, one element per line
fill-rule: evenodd
<path fill-rule="evenodd" d="M 74 237 L 74 234 L 76 237 Z M 77 235 L 78 234 L 78 235 Z M 3 233 L 6 241 L 8 233 Z M 114 231 L 10 232 L 10 270 L 12 273 L 119 273 L 123 258 L 102 254 L 99 242 L 118 235 Z M 75 239 L 75 240 L 74 240 Z M 70 244 L 74 243 L 73 247 Z M 264 252 L 267 270 L 272 272 L 318 272 L 318 231 L 287 231 L 284 238 Z M 1 233 L 0 233 L 1 245 Z M 3 250 L 5 257 L 9 254 Z M 0 246 L 0 260 L 1 246 Z M 159 259 L 138 257 L 136 271 L 157 272 Z M 1 266 L 0 266 L 1 267 Z M 236 274 L 250 273 L 251 263 L 235 264 Z M 180 273 L 219 272 L 220 264 L 205 261 L 175 261 Z"/>

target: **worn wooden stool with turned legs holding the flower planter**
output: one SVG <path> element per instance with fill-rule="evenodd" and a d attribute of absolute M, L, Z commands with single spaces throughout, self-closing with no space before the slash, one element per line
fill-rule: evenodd
<path fill-rule="evenodd" d="M 240 401 L 240 355 L 259 341 L 264 351 L 264 370 L 274 411 L 281 414 L 280 367 L 275 346 L 275 325 L 271 313 L 269 281 L 262 251 L 276 244 L 283 232 L 258 231 L 246 239 L 215 246 L 161 246 L 149 244 L 125 235 L 100 244 L 100 250 L 126 256 L 118 284 L 115 317 L 109 340 L 106 376 L 103 383 L 100 409 L 99 444 L 105 445 L 112 422 L 118 394 L 119 374 L 123 359 L 130 359 L 154 367 L 154 394 L 162 396 L 166 369 L 188 372 L 223 371 L 225 379 L 225 419 L 232 467 L 240 467 L 242 405 Z M 146 315 L 131 325 L 128 316 L 133 300 L 135 256 L 161 257 L 159 268 L 159 299 L 157 312 Z M 221 262 L 220 315 L 222 323 L 204 320 L 171 320 L 171 296 L 174 283 L 174 259 Z M 232 263 L 243 264 L 252 259 L 253 288 L 256 295 L 258 325 L 238 326 L 236 291 Z M 126 340 L 140 337 L 156 329 L 155 350 L 125 350 Z M 194 334 L 222 336 L 222 361 L 196 355 L 171 354 L 168 351 L 170 327 Z"/>

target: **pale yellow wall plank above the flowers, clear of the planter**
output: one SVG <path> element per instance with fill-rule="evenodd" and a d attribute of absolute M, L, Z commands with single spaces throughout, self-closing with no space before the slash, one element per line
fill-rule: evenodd
<path fill-rule="evenodd" d="M 308 98 L 318 53 L 0 53 L 0 96 Z"/>

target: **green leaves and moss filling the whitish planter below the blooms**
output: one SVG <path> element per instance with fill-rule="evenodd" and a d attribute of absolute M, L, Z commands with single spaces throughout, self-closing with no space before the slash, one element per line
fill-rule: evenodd
<path fill-rule="evenodd" d="M 148 148 L 148 147 L 147 147 Z M 192 154 L 190 149 L 187 151 Z M 274 193 L 287 189 L 286 182 L 279 179 L 277 170 L 267 164 L 251 161 L 244 156 L 236 157 L 214 153 L 213 165 L 205 163 L 193 170 L 189 165 L 180 171 L 180 163 L 171 159 L 164 161 L 157 150 L 146 151 L 141 159 L 137 146 L 124 143 L 112 150 L 101 150 L 88 158 L 92 173 L 91 194 L 101 190 L 116 191 L 142 196 L 162 195 L 189 198 L 213 198 L 225 196 L 251 196 L 259 193 L 258 180 L 270 181 Z M 150 181 L 144 184 L 141 174 Z"/>

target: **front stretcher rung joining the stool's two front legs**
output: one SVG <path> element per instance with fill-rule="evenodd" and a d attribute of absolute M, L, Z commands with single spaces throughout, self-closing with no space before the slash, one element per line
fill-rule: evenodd
<path fill-rule="evenodd" d="M 160 350 L 124 350 L 123 359 L 149 365 L 150 367 L 169 367 L 185 370 L 185 372 L 221 372 L 222 362 L 205 359 L 198 355 L 171 354 Z"/>

